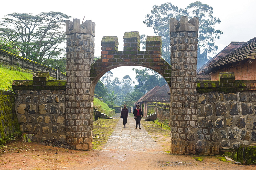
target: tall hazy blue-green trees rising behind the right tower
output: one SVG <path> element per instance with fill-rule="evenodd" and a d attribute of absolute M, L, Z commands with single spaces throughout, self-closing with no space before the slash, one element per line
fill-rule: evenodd
<path fill-rule="evenodd" d="M 218 49 L 214 41 L 219 39 L 222 31 L 216 30 L 214 25 L 220 23 L 220 19 L 213 17 L 213 8 L 201 2 L 189 4 L 186 9 L 178 8 L 172 3 L 154 5 L 151 14 L 146 15 L 143 21 L 147 27 L 152 27 L 154 33 L 162 36 L 162 57 L 170 63 L 170 35 L 169 20 L 176 18 L 180 20 L 181 16 L 189 18 L 199 18 L 198 33 L 198 68 L 201 67 L 210 58 L 210 53 Z"/>

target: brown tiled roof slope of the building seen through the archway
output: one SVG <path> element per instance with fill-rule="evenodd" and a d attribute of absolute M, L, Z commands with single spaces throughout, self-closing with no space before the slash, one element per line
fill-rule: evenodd
<path fill-rule="evenodd" d="M 157 91 L 155 91 L 151 95 L 146 96 L 142 101 L 170 101 L 170 95 L 167 94 L 169 90 L 169 85 L 164 84 Z"/>

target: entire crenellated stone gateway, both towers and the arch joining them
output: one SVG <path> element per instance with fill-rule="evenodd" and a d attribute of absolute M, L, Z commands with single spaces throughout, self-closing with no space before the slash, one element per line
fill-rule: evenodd
<path fill-rule="evenodd" d="M 170 20 L 171 65 L 161 58 L 161 37 L 148 36 L 140 51 L 138 32 L 125 32 L 124 50 L 116 36 L 102 38 L 102 58 L 94 59 L 95 23 L 66 21 L 67 96 L 66 138 L 74 149 L 92 150 L 93 92 L 100 77 L 120 66 L 143 66 L 157 71 L 171 90 L 172 150 L 195 152 L 196 67 L 198 18 Z M 193 130 L 194 129 L 194 130 Z"/>

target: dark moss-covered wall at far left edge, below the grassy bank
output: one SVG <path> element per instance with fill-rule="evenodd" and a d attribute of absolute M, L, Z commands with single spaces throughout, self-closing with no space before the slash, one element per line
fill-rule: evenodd
<path fill-rule="evenodd" d="M 14 109 L 14 94 L 0 91 L 0 145 L 20 134 L 19 123 Z"/>

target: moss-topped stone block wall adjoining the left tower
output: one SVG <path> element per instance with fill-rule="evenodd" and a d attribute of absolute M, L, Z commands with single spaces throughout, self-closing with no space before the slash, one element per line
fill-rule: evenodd
<path fill-rule="evenodd" d="M 50 81 L 48 72 L 35 72 L 33 80 L 14 80 L 15 111 L 22 133 L 32 141 L 66 142 L 66 81 Z"/>

